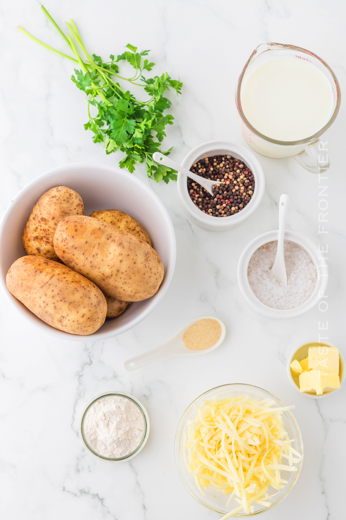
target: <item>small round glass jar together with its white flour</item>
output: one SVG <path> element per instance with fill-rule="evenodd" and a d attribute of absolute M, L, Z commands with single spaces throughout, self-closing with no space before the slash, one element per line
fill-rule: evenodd
<path fill-rule="evenodd" d="M 79 437 L 85 449 L 105 462 L 132 459 L 149 435 L 148 414 L 135 397 L 105 392 L 82 411 Z"/>

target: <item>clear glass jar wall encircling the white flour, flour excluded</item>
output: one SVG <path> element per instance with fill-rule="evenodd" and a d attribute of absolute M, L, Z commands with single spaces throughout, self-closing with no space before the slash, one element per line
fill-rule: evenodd
<path fill-rule="evenodd" d="M 137 408 L 139 408 L 139 410 L 141 411 L 141 413 L 143 415 L 143 419 L 144 419 L 144 433 L 143 433 L 143 437 L 142 437 L 140 444 L 133 451 L 131 451 L 131 453 L 129 453 L 128 455 L 125 455 L 124 457 L 119 457 L 119 458 L 103 457 L 102 455 L 100 455 L 100 453 L 97 453 L 89 446 L 89 444 L 87 443 L 87 440 L 85 438 L 85 435 L 84 435 L 84 421 L 85 421 L 85 418 L 86 418 L 86 415 L 87 415 L 89 409 L 95 404 L 95 402 L 99 401 L 103 397 L 112 397 L 112 396 L 124 397 L 124 398 L 132 401 L 137 406 Z M 82 441 L 84 448 L 93 457 L 96 457 L 96 459 L 100 459 L 105 462 L 121 462 L 122 460 L 132 459 L 132 457 L 134 457 L 137 453 L 139 453 L 141 451 L 141 449 L 143 448 L 143 446 L 145 445 L 145 443 L 147 441 L 148 436 L 149 436 L 149 418 L 148 418 L 146 409 L 140 403 L 140 401 L 137 400 L 135 397 L 133 397 L 132 395 L 129 395 L 129 394 L 124 394 L 123 392 L 110 391 L 110 392 L 104 392 L 103 394 L 100 394 L 100 395 L 96 395 L 96 397 L 94 397 L 91 401 L 88 402 L 88 404 L 86 405 L 86 407 L 84 408 L 84 410 L 82 411 L 82 413 L 80 415 L 79 437 L 80 437 L 80 440 Z"/>

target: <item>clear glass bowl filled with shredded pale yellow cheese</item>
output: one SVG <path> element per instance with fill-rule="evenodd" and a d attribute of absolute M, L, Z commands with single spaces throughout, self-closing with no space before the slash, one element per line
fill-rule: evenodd
<path fill-rule="evenodd" d="M 293 408 L 245 384 L 195 399 L 175 436 L 177 470 L 190 495 L 221 520 L 255 516 L 283 500 L 303 459 Z"/>

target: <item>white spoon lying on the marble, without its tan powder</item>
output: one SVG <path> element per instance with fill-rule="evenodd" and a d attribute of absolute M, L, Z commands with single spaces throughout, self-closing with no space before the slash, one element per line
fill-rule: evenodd
<path fill-rule="evenodd" d="M 185 346 L 185 343 L 183 342 L 183 335 L 185 331 L 193 323 L 196 323 L 196 321 L 204 320 L 204 319 L 211 319 L 216 320 L 219 322 L 221 326 L 221 335 L 218 342 L 215 343 L 210 348 L 205 348 L 204 350 L 191 350 L 190 348 L 187 348 Z M 171 356 L 198 356 L 199 354 L 206 354 L 207 352 L 211 352 L 212 350 L 215 350 L 218 346 L 222 344 L 222 342 L 225 339 L 226 334 L 226 327 L 224 323 L 219 320 L 218 318 L 215 318 L 214 316 L 203 316 L 202 318 L 197 318 L 193 321 L 190 321 L 190 323 L 187 323 L 185 327 L 180 330 L 176 336 L 174 336 L 170 341 L 162 345 L 161 347 L 155 348 L 154 350 L 150 350 L 150 352 L 146 352 L 145 354 L 141 354 L 140 356 L 135 356 L 133 358 L 127 359 L 122 363 L 123 368 L 130 372 L 131 370 L 135 370 L 136 368 L 144 367 L 145 365 L 149 365 L 149 363 L 153 363 L 154 361 L 159 361 L 160 359 L 164 359 Z"/>

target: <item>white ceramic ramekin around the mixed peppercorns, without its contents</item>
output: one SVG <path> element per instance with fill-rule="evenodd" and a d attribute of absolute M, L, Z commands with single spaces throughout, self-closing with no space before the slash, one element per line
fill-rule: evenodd
<path fill-rule="evenodd" d="M 187 170 L 190 170 L 190 167 L 193 163 L 203 159 L 204 157 L 224 154 L 232 155 L 232 157 L 236 157 L 237 159 L 245 162 L 245 164 L 252 171 L 255 179 L 255 190 L 251 201 L 247 204 L 247 206 L 244 207 L 243 210 L 241 210 L 239 213 L 236 213 L 235 215 L 217 218 L 206 215 L 201 210 L 199 210 L 190 199 L 189 192 L 187 190 L 186 175 L 178 172 L 178 193 L 187 215 L 193 223 L 209 231 L 227 231 L 229 229 L 233 229 L 236 226 L 239 226 L 239 224 L 244 222 L 244 220 L 246 220 L 247 217 L 250 217 L 250 215 L 252 215 L 253 212 L 257 209 L 265 191 L 265 176 L 262 167 L 253 152 L 244 146 L 235 145 L 232 142 L 204 142 L 202 145 L 193 148 L 193 150 L 191 150 L 186 155 L 182 162 L 182 166 L 187 168 Z"/>

